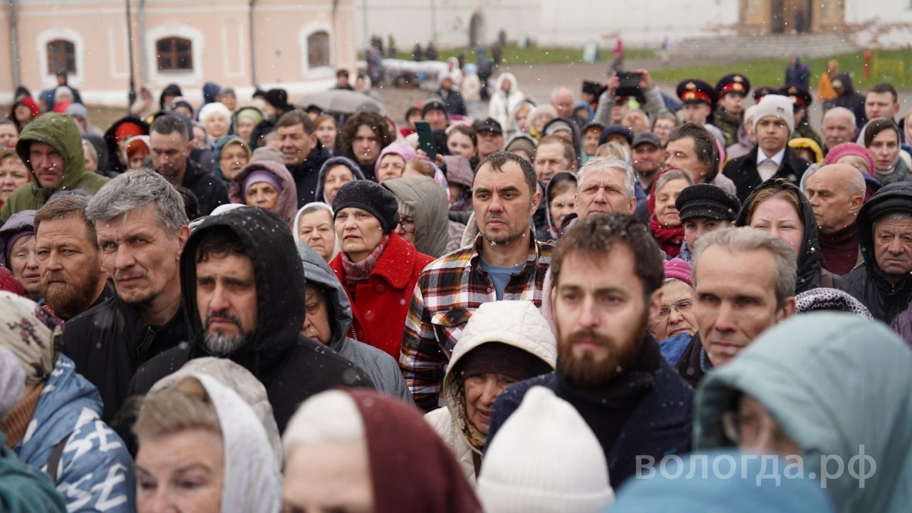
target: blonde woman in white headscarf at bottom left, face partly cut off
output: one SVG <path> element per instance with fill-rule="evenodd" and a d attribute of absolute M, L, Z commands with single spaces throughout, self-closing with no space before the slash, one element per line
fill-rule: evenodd
<path fill-rule="evenodd" d="M 278 511 L 279 464 L 263 424 L 202 372 L 149 393 L 133 425 L 140 513 Z"/>

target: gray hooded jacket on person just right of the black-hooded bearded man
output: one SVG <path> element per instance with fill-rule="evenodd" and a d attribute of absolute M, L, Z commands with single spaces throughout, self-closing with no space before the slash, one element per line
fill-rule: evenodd
<path fill-rule="evenodd" d="M 301 263 L 304 264 L 307 283 L 323 288 L 329 300 L 329 322 L 332 325 L 333 336 L 326 346 L 367 372 L 370 380 L 377 386 L 378 392 L 389 393 L 409 404 L 413 403 L 409 388 L 402 379 L 402 372 L 399 371 L 399 363 L 386 352 L 346 336 L 348 329 L 351 328 L 351 303 L 348 302 L 345 288 L 339 283 L 326 261 L 305 244 L 298 243 L 297 252 L 301 256 Z"/>

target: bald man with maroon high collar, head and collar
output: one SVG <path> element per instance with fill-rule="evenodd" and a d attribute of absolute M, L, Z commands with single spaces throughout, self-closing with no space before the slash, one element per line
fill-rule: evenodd
<path fill-rule="evenodd" d="M 820 264 L 843 276 L 861 261 L 855 219 L 865 201 L 865 177 L 854 167 L 840 163 L 808 173 L 804 195 L 820 228 Z"/>

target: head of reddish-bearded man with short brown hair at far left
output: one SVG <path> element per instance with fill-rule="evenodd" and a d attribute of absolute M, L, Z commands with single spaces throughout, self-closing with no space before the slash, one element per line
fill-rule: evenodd
<path fill-rule="evenodd" d="M 41 297 L 60 319 L 72 319 L 110 296 L 101 267 L 95 224 L 86 218 L 88 198 L 64 194 L 35 214 L 35 251 Z"/>

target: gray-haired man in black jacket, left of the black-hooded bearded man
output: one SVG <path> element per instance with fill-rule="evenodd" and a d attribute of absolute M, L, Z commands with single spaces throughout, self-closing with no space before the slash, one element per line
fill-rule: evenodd
<path fill-rule="evenodd" d="M 67 321 L 63 351 L 98 387 L 109 422 L 140 365 L 189 340 L 178 261 L 190 230 L 181 194 L 150 169 L 107 183 L 86 218 L 117 295 Z"/>

